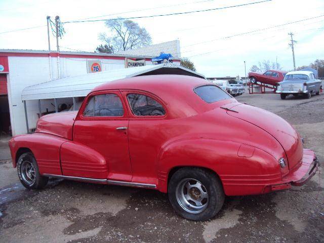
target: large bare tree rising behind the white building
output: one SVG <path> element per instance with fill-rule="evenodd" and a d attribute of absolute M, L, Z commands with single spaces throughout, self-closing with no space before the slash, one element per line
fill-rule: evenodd
<path fill-rule="evenodd" d="M 109 29 L 109 34 L 100 33 L 99 39 L 108 46 L 113 46 L 117 51 L 141 48 L 152 43 L 147 30 L 132 20 L 121 18 L 107 20 L 105 25 Z"/>

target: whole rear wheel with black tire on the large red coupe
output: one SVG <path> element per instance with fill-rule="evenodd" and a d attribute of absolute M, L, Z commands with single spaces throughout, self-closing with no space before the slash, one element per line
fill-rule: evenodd
<path fill-rule="evenodd" d="M 183 183 L 187 184 L 187 180 L 188 183 L 193 183 L 190 183 L 190 193 L 189 191 L 185 192 L 186 195 L 190 198 L 193 198 L 190 195 L 197 195 L 195 190 L 197 190 L 198 188 L 195 186 L 200 185 L 200 189 L 198 189 L 198 191 L 200 190 L 201 192 L 204 192 L 205 195 L 207 193 L 207 198 L 204 196 L 204 198 L 201 199 L 202 194 L 200 194 L 199 198 L 196 198 L 201 201 L 201 211 L 198 211 L 198 209 L 192 209 L 192 207 L 199 206 L 193 201 L 187 201 L 185 199 L 186 203 L 191 201 L 191 203 L 188 203 L 189 206 L 185 206 L 183 201 L 181 203 L 181 199 L 179 199 L 179 192 L 181 193 L 182 191 L 182 194 L 184 194 L 184 190 L 187 190 L 186 188 L 184 188 L 185 186 L 181 187 Z M 176 213 L 185 219 L 193 221 L 205 221 L 215 217 L 215 215 L 223 207 L 225 200 L 225 194 L 220 179 L 212 172 L 201 168 L 186 167 L 176 171 L 170 179 L 168 185 L 168 195 L 170 203 Z M 184 199 L 185 196 L 181 198 Z M 197 211 L 189 212 L 191 209 Z"/>

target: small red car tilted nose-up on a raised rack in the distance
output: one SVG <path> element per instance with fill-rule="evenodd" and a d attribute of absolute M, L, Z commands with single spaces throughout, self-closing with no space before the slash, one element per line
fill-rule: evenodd
<path fill-rule="evenodd" d="M 276 86 L 277 83 L 284 80 L 287 71 L 282 70 L 268 70 L 264 73 L 249 72 L 249 78 L 252 83 L 263 83 L 267 85 Z"/>

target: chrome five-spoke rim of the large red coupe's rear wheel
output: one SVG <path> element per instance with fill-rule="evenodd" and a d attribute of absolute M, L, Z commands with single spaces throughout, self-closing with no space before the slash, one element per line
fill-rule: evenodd
<path fill-rule="evenodd" d="M 183 179 L 178 183 L 176 197 L 180 207 L 191 214 L 203 212 L 209 202 L 206 187 L 198 180 L 192 178 Z"/>

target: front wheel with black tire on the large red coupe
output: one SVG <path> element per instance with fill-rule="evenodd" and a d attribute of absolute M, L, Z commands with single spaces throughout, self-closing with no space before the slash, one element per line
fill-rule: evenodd
<path fill-rule="evenodd" d="M 49 180 L 48 177 L 39 174 L 36 159 L 31 152 L 20 155 L 17 162 L 17 172 L 21 184 L 29 190 L 44 188 Z"/>

